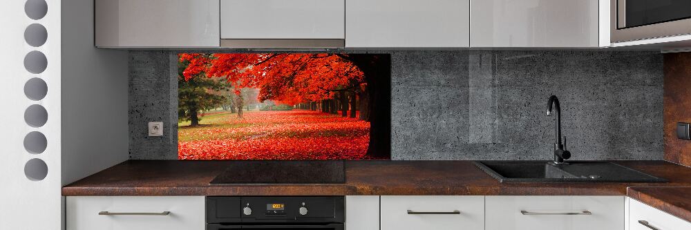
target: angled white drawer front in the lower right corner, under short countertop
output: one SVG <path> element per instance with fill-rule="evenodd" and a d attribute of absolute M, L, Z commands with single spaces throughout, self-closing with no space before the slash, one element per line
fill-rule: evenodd
<path fill-rule="evenodd" d="M 691 230 L 691 223 L 653 207 L 629 200 L 628 230 Z M 647 226 L 641 222 L 647 224 Z"/>

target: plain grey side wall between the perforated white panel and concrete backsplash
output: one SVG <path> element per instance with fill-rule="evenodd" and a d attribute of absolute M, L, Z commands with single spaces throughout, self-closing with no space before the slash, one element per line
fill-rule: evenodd
<path fill-rule="evenodd" d="M 93 0 L 62 0 L 62 184 L 127 160 L 127 52 L 95 48 Z"/>

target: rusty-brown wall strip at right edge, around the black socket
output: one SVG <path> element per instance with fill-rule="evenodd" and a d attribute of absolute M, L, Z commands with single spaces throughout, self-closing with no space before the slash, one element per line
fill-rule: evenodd
<path fill-rule="evenodd" d="M 691 52 L 665 54 L 665 160 L 691 166 L 691 141 L 676 138 L 676 122 L 691 122 Z"/>

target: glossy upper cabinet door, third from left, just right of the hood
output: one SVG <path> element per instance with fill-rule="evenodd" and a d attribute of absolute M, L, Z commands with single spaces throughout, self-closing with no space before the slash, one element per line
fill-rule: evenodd
<path fill-rule="evenodd" d="M 468 47 L 468 0 L 348 0 L 345 47 Z"/>

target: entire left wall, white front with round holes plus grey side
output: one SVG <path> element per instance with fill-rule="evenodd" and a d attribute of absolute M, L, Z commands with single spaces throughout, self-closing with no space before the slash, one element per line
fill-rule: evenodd
<path fill-rule="evenodd" d="M 5 22 L 0 30 L 3 230 L 61 229 L 61 187 L 128 157 L 126 52 L 93 48 L 92 0 L 45 2 L 48 12 L 40 19 L 26 15 L 26 0 L 3 1 L 0 8 L 0 20 Z M 33 47 L 24 40 L 25 28 L 32 23 L 46 28 L 45 44 Z M 24 57 L 31 51 L 46 56 L 43 72 L 24 68 Z M 46 82 L 46 97 L 32 100 L 25 95 L 23 88 L 33 77 Z M 32 127 L 25 122 L 26 108 L 31 105 L 46 109 L 44 125 Z M 32 131 L 46 136 L 45 151 L 29 153 L 24 148 L 24 137 Z M 34 158 L 48 168 L 42 180 L 25 175 L 25 164 Z"/>

